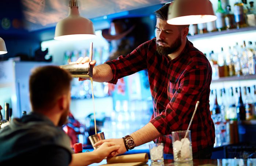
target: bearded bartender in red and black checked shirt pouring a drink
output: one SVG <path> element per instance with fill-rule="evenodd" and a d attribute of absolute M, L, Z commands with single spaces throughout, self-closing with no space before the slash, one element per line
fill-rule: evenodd
<path fill-rule="evenodd" d="M 188 41 L 188 25 L 167 24 L 169 4 L 155 11 L 156 38 L 144 42 L 126 56 L 107 61 L 93 69 L 93 80 L 116 84 L 117 80 L 143 69 L 148 70 L 154 114 L 144 127 L 114 142 L 119 154 L 154 140 L 164 144 L 165 154 L 173 153 L 172 131 L 186 130 L 196 101 L 200 101 L 191 125 L 194 159 L 210 159 L 215 129 L 209 109 L 211 65 L 202 52 Z M 77 63 L 89 61 L 88 57 Z M 90 62 L 95 65 L 96 61 Z M 79 78 L 79 80 L 84 80 Z"/>

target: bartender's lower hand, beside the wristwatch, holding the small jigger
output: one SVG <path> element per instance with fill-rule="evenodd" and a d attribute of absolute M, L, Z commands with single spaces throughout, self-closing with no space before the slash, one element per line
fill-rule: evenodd
<path fill-rule="evenodd" d="M 123 138 L 100 140 L 100 141 L 98 141 L 97 143 L 94 144 L 94 147 L 97 147 L 99 145 L 102 146 L 104 143 L 108 143 L 108 142 L 112 142 L 112 143 L 120 146 L 120 148 L 115 153 L 111 153 L 112 156 L 116 156 L 116 155 L 123 154 L 124 152 L 126 152 L 126 148 L 125 148 L 125 145 L 124 145 Z"/>

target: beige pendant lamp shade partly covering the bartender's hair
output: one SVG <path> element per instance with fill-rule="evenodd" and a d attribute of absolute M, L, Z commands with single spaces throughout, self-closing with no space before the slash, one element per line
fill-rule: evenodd
<path fill-rule="evenodd" d="M 167 23 L 189 25 L 217 19 L 209 0 L 175 0 L 169 5 Z"/>

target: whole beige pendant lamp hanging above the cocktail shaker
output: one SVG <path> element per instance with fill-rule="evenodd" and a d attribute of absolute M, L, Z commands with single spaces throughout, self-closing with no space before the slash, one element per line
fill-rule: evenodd
<path fill-rule="evenodd" d="M 83 40 L 96 37 L 93 22 L 79 15 L 77 0 L 69 0 L 69 14 L 55 28 L 54 39 L 63 41 Z"/>

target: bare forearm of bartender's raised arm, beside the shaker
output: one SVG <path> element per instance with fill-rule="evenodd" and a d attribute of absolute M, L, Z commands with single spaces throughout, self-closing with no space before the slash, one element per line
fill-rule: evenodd
<path fill-rule="evenodd" d="M 108 82 L 112 80 L 112 69 L 108 64 L 97 65 L 93 68 L 93 80 L 96 82 Z"/>

